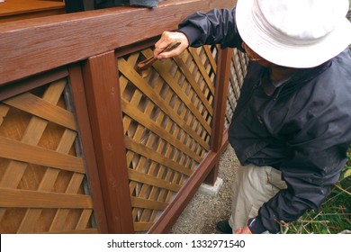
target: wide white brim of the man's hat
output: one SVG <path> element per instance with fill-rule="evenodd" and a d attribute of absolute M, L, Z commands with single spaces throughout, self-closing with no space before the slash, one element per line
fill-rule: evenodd
<path fill-rule="evenodd" d="M 337 56 L 351 43 L 351 23 L 346 17 L 325 38 L 314 43 L 296 44 L 269 36 L 254 20 L 252 14 L 254 1 L 238 1 L 236 10 L 238 33 L 248 47 L 275 65 L 317 67 Z"/>

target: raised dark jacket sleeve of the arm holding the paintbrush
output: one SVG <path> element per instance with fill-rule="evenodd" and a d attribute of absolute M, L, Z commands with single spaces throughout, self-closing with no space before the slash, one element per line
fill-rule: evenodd
<path fill-rule="evenodd" d="M 221 48 L 240 48 L 241 38 L 235 23 L 235 7 L 213 9 L 207 14 L 197 12 L 179 23 L 178 31 L 183 32 L 192 47 L 220 44 Z"/>

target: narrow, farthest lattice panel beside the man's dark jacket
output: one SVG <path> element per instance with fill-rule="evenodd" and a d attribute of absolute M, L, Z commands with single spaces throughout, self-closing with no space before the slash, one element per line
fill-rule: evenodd
<path fill-rule="evenodd" d="M 227 109 L 225 127 L 228 128 L 238 102 L 244 76 L 247 73 L 248 59 L 245 53 L 238 49 L 233 49 L 230 65 L 229 93 L 227 97 Z"/>

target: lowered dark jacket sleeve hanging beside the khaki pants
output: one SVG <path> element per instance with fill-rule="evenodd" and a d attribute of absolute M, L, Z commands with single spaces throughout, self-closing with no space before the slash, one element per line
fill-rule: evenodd
<path fill-rule="evenodd" d="M 276 233 L 280 230 L 278 221 L 298 220 L 305 211 L 318 209 L 329 194 L 345 166 L 347 146 L 336 146 L 308 157 L 296 153 L 296 157 L 283 166 L 283 179 L 288 188 L 275 194 L 258 211 L 257 222 L 252 229 L 261 233 L 265 230 Z M 303 157 L 304 156 L 304 157 Z M 327 159 L 334 159 L 334 164 Z M 322 162 L 325 161 L 325 164 Z M 250 228 L 251 229 L 251 228 Z"/>

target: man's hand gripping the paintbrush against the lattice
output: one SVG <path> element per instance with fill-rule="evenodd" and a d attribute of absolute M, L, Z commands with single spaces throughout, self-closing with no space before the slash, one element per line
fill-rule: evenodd
<path fill-rule="evenodd" d="M 179 42 L 180 45 L 175 49 L 172 49 L 167 52 L 162 52 L 170 44 Z M 155 44 L 154 57 L 158 59 L 172 58 L 180 55 L 184 49 L 187 49 L 189 46 L 189 41 L 182 32 L 178 31 L 164 31 L 161 38 Z"/>

